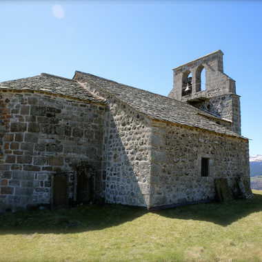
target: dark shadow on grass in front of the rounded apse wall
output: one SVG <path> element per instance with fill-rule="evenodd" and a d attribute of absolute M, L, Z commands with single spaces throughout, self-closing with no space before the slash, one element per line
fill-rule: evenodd
<path fill-rule="evenodd" d="M 68 234 L 102 230 L 132 221 L 146 213 L 148 210 L 145 208 L 110 204 L 6 213 L 0 216 L 0 234 Z"/>

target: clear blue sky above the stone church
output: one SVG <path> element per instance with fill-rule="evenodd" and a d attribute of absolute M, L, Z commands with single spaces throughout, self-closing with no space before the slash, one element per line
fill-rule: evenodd
<path fill-rule="evenodd" d="M 0 81 L 90 72 L 168 95 L 172 68 L 214 50 L 262 154 L 262 1 L 2 1 Z"/>

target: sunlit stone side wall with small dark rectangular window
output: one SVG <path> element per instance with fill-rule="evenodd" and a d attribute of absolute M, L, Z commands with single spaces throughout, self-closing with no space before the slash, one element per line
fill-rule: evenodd
<path fill-rule="evenodd" d="M 196 128 L 152 123 L 150 206 L 212 200 L 214 179 L 227 178 L 236 193 L 236 179 L 250 188 L 248 140 Z M 201 177 L 201 158 L 210 159 L 208 177 Z"/>

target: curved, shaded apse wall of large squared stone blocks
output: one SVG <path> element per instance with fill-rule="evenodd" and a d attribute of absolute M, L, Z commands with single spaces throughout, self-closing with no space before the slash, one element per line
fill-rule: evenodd
<path fill-rule="evenodd" d="M 0 209 L 50 203 L 51 177 L 80 161 L 97 171 L 105 105 L 36 92 L 1 92 Z"/>

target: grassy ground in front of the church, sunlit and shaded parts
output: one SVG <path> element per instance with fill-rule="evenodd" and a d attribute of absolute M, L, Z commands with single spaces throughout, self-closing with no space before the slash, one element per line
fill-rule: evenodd
<path fill-rule="evenodd" d="M 0 216 L 0 261 L 262 261 L 254 199 L 148 212 L 121 205 Z"/>

